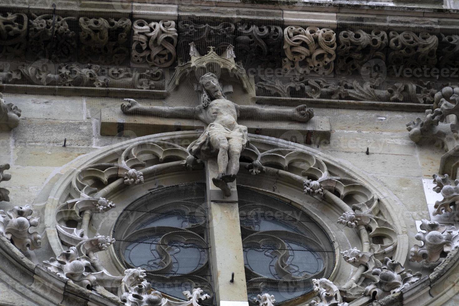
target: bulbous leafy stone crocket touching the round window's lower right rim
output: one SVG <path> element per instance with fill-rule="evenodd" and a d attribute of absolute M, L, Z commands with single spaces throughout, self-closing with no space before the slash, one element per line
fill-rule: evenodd
<path fill-rule="evenodd" d="M 421 273 L 412 274 L 411 270 L 405 272 L 405 267 L 400 262 L 386 257 L 381 267 L 368 270 L 363 276 L 373 280 L 366 286 L 364 295 L 381 300 L 420 280 Z"/>

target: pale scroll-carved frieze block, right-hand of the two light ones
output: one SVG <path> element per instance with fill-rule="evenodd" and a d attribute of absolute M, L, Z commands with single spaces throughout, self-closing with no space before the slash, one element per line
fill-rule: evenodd
<path fill-rule="evenodd" d="M 284 29 L 283 70 L 288 73 L 292 69 L 300 74 L 316 72 L 329 75 L 334 69 L 336 58 L 336 34 L 328 28 L 305 29 L 289 26 Z"/>

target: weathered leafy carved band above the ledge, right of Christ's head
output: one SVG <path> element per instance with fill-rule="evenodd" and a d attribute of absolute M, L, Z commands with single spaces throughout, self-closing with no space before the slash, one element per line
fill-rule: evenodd
<path fill-rule="evenodd" d="M 345 79 L 329 83 L 320 78 L 292 77 L 284 83 L 279 79 L 261 78 L 256 84 L 257 95 L 298 97 L 313 99 L 336 99 L 380 102 L 432 103 L 436 90 L 427 83 L 393 83 L 385 87 L 373 83 L 360 83 Z"/>

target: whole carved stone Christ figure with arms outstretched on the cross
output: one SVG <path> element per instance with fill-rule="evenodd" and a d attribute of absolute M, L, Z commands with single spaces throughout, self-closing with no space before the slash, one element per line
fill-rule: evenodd
<path fill-rule="evenodd" d="M 201 160 L 217 155 L 218 176 L 213 183 L 226 195 L 230 193 L 227 183 L 233 182 L 239 171 L 239 157 L 249 139 L 247 127 L 237 123 L 238 118 L 293 119 L 307 122 L 314 116 L 306 105 L 293 110 L 264 109 L 256 106 L 240 106 L 226 99 L 218 78 L 206 73 L 199 81 L 202 90 L 202 104 L 196 107 L 142 106 L 132 99 L 121 105 L 125 114 L 152 115 L 158 117 L 196 118 L 205 122 L 207 128 L 191 148 L 191 154 Z"/>

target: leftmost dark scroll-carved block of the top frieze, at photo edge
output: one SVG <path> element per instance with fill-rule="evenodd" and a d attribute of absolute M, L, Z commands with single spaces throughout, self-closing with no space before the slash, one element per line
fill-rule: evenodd
<path fill-rule="evenodd" d="M 28 18 L 25 14 L 0 15 L 0 59 L 24 57 Z"/>

